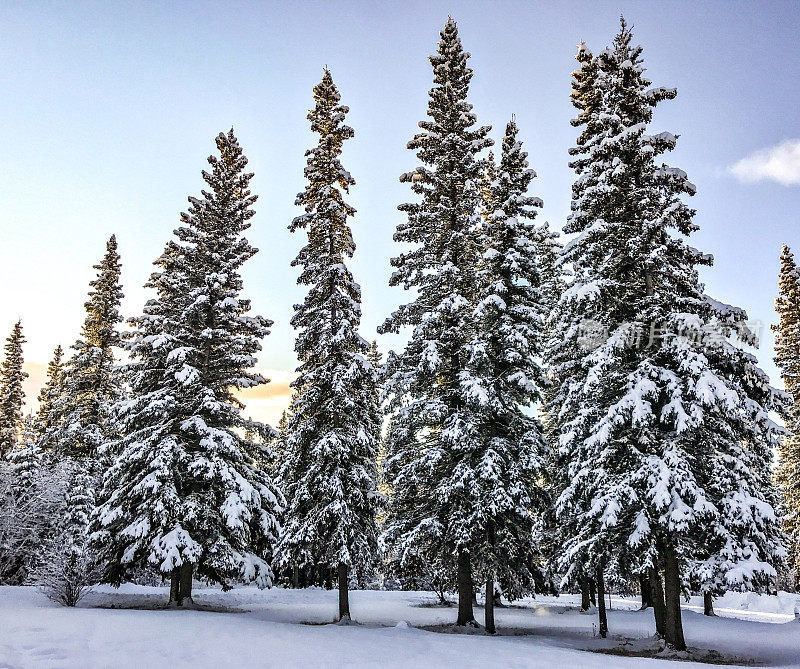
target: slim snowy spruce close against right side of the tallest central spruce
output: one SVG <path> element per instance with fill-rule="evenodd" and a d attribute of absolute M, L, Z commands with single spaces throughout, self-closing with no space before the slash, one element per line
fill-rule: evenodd
<path fill-rule="evenodd" d="M 546 385 L 540 361 L 549 305 L 536 243 L 542 231 L 531 222 L 542 203 L 527 195 L 536 173 L 517 133 L 510 122 L 484 207 L 467 388 L 483 440 L 469 524 L 479 537 L 473 561 L 486 583 L 489 633 L 495 631 L 495 580 L 512 599 L 535 590 L 534 527 L 549 507 L 542 426 L 523 411 L 541 400 Z"/>

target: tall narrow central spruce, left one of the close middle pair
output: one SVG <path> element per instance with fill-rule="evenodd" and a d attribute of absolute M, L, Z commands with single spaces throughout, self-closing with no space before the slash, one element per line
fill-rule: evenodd
<path fill-rule="evenodd" d="M 387 362 L 385 393 L 393 413 L 385 475 L 391 494 L 385 540 L 402 573 L 428 566 L 458 573 L 457 624 L 472 624 L 471 558 L 480 527 L 478 482 L 483 440 L 473 418 L 468 346 L 475 332 L 476 265 L 484 161 L 490 127 L 467 102 L 472 70 L 448 19 L 430 57 L 429 119 L 409 144 L 423 165 L 404 174 L 421 201 L 400 205 L 408 220 L 394 239 L 412 249 L 392 260 L 390 284 L 416 292 L 383 332 L 412 328 L 405 350 Z"/>

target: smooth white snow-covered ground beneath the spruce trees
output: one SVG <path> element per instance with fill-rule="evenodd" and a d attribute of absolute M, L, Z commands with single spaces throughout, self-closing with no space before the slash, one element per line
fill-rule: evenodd
<path fill-rule="evenodd" d="M 417 629 L 455 619 L 454 608 L 435 606 L 436 597 L 424 592 L 353 592 L 351 610 L 361 624 L 352 626 L 322 624 L 334 619 L 334 591 L 200 589 L 196 602 L 215 610 L 148 610 L 167 594 L 104 587 L 66 609 L 35 588 L 0 587 L 0 668 L 668 666 L 662 659 L 589 652 L 648 646 L 653 615 L 636 610 L 633 599 L 612 598 L 611 638 L 602 640 L 595 638 L 596 616 L 580 614 L 573 596 L 498 609 L 501 634 L 488 637 Z M 687 643 L 742 663 L 800 667 L 796 600 L 729 593 L 717 600 L 716 618 L 697 613 L 701 602 L 692 601 L 684 613 Z"/>

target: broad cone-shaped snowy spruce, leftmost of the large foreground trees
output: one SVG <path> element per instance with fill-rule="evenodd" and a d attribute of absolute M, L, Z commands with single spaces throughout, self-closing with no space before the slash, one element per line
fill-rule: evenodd
<path fill-rule="evenodd" d="M 105 580 L 154 568 L 171 576 L 178 605 L 191 601 L 193 574 L 269 586 L 281 506 L 240 436 L 251 424 L 234 395 L 265 383 L 252 367 L 271 325 L 241 297 L 241 267 L 256 253 L 242 234 L 255 213 L 252 174 L 233 130 L 216 145 L 208 191 L 189 198 L 148 282 L 156 297 L 133 319 L 132 396 L 115 409 L 119 455 L 91 523 Z"/>

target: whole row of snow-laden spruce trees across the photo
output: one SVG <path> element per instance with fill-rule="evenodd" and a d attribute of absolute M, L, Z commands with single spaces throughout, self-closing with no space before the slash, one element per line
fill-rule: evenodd
<path fill-rule="evenodd" d="M 192 604 L 194 579 L 336 582 L 346 620 L 351 585 L 377 574 L 384 587 L 456 592 L 457 625 L 477 625 L 480 584 L 490 633 L 501 595 L 574 588 L 584 610 L 596 604 L 603 635 L 606 588 L 637 588 L 682 650 L 682 593 L 703 593 L 711 613 L 715 595 L 796 570 L 791 253 L 777 302 L 781 392 L 746 350 L 757 345 L 746 313 L 705 293 L 698 269 L 712 257 L 686 241 L 695 187 L 663 162 L 677 137 L 650 133 L 676 91 L 645 77 L 624 20 L 611 46 L 581 44 L 576 58 L 562 242 L 536 220 L 536 173 L 513 118 L 491 152 L 448 19 L 408 143 L 419 165 L 400 178 L 414 199 L 399 206 L 390 284 L 410 297 L 379 328 L 409 336 L 385 361 L 359 332 L 345 199 L 355 180 L 340 160 L 354 131 L 325 69 L 303 213 L 289 228 L 304 239 L 292 266 L 306 296 L 277 429 L 246 418 L 236 395 L 267 382 L 254 366 L 272 321 L 244 297 L 256 196 L 238 139 L 221 133 L 142 313 L 121 333 L 112 236 L 81 336 L 69 359 L 56 349 L 25 417 L 14 326 L 0 368 L 3 580 L 74 604 L 88 583 L 157 575 L 176 606 Z"/>

